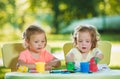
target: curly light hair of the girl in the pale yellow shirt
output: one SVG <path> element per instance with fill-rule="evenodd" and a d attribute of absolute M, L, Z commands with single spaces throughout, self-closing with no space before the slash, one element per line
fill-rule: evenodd
<path fill-rule="evenodd" d="M 78 32 L 89 32 L 91 35 L 91 50 L 97 46 L 97 41 L 100 40 L 100 34 L 98 33 L 97 29 L 93 25 L 78 25 L 73 34 L 74 46 L 77 44 L 77 34 Z"/>

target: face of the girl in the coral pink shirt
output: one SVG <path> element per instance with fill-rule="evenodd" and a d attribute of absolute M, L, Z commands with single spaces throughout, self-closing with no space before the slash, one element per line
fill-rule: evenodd
<path fill-rule="evenodd" d="M 39 53 L 45 47 L 45 34 L 35 34 L 30 36 L 30 40 L 28 41 L 29 49 L 33 52 Z"/>

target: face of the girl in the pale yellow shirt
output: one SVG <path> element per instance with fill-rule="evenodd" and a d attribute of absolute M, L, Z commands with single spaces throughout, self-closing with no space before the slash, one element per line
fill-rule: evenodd
<path fill-rule="evenodd" d="M 88 53 L 91 49 L 91 36 L 89 32 L 78 32 L 77 33 L 77 48 L 82 53 Z"/>

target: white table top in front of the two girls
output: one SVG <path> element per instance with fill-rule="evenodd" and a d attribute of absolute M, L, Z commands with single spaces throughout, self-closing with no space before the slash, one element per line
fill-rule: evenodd
<path fill-rule="evenodd" d="M 5 74 L 5 79 L 120 79 L 120 70 L 70 74 L 9 72 Z"/>

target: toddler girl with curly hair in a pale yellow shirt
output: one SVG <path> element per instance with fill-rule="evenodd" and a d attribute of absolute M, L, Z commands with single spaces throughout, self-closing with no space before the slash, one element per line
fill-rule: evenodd
<path fill-rule="evenodd" d="M 74 31 L 74 47 L 67 53 L 66 62 L 88 62 L 93 57 L 96 63 L 103 59 L 102 52 L 97 48 L 99 33 L 92 25 L 79 25 Z"/>

